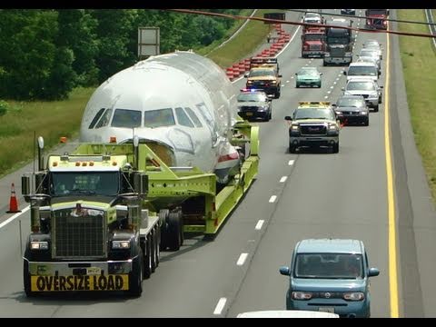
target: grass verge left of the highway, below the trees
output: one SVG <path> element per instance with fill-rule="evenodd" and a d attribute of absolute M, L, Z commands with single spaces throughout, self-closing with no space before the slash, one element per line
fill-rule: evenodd
<path fill-rule="evenodd" d="M 276 9 L 261 9 L 255 16 L 277 12 Z M 280 12 L 280 10 L 279 10 Z M 251 15 L 253 9 L 244 9 L 241 15 Z M 232 35 L 244 20 L 239 20 L 228 32 Z M 197 54 L 207 54 L 223 68 L 238 62 L 261 45 L 268 35 L 271 25 L 250 21 L 241 33 L 220 48 L 223 40 L 197 50 Z M 14 102 L 7 101 L 8 110 L 0 115 L 0 177 L 30 163 L 34 157 L 34 134 L 45 139 L 45 151 L 59 144 L 59 137 L 69 139 L 79 134 L 84 107 L 94 88 L 75 89 L 70 98 L 55 102 Z"/>

